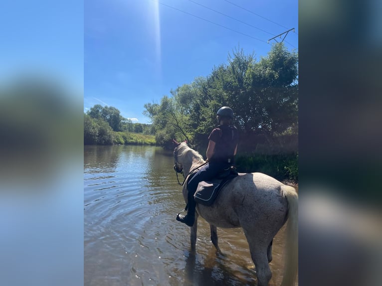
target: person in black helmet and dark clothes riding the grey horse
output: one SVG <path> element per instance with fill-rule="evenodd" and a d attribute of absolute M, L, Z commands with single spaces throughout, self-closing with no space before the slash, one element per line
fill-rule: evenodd
<path fill-rule="evenodd" d="M 207 147 L 208 163 L 200 168 L 187 183 L 188 189 L 188 213 L 178 214 L 177 220 L 193 226 L 195 220 L 196 202 L 193 194 L 201 181 L 213 179 L 219 172 L 229 168 L 234 163 L 234 155 L 237 151 L 238 131 L 232 125 L 233 111 L 223 106 L 217 111 L 216 119 L 218 126 L 209 135 Z"/>

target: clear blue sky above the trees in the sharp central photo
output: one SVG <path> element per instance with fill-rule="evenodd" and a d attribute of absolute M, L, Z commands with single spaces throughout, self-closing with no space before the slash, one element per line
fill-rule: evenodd
<path fill-rule="evenodd" d="M 285 44 L 298 49 L 297 0 L 230 1 L 257 15 L 225 0 L 85 0 L 84 111 L 109 105 L 149 123 L 145 103 L 207 76 L 239 45 L 259 59 L 269 38 L 295 28 Z"/>

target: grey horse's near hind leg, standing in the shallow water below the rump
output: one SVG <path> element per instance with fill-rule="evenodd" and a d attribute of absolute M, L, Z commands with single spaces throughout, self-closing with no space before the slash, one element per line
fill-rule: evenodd
<path fill-rule="evenodd" d="M 263 243 L 262 240 L 258 239 L 254 235 L 249 236 L 245 230 L 244 234 L 247 238 L 252 261 L 255 264 L 257 272 L 257 286 L 267 286 L 272 277 L 272 272 L 269 268 L 267 257 L 268 243 Z"/>

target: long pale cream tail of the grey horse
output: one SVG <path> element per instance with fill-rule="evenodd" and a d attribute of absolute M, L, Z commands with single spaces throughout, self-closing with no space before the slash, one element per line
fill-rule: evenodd
<path fill-rule="evenodd" d="M 298 269 L 298 195 L 295 188 L 281 186 L 281 194 L 288 200 L 284 277 L 281 286 L 294 286 Z"/>

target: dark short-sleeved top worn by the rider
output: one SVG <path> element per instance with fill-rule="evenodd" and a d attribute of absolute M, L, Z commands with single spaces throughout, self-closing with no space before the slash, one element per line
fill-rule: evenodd
<path fill-rule="evenodd" d="M 233 154 L 239 139 L 236 127 L 219 125 L 212 130 L 208 139 L 215 143 L 210 162 L 234 163 Z"/>

